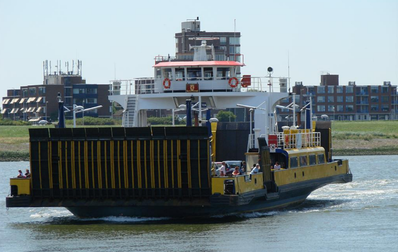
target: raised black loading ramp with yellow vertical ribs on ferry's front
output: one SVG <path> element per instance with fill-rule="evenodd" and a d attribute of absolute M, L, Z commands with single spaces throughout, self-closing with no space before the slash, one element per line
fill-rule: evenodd
<path fill-rule="evenodd" d="M 208 197 L 206 127 L 29 129 L 34 199 Z"/>

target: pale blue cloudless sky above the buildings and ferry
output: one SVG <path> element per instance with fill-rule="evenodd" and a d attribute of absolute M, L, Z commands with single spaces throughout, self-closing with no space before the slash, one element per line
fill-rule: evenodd
<path fill-rule="evenodd" d="M 242 74 L 272 66 L 303 85 L 319 85 L 321 71 L 340 85 L 398 84 L 398 0 L 0 0 L 0 97 L 42 84 L 44 60 L 52 71 L 82 60 L 87 83 L 153 77 L 154 57 L 174 56 L 181 22 L 197 16 L 205 31 L 236 20 Z"/>

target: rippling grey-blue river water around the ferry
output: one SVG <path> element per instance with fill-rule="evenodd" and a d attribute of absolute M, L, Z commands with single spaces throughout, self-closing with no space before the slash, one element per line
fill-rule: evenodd
<path fill-rule="evenodd" d="M 0 252 L 398 251 L 398 156 L 346 158 L 353 182 L 318 189 L 299 206 L 196 221 L 7 211 L 8 178 L 29 163 L 2 162 Z"/>

